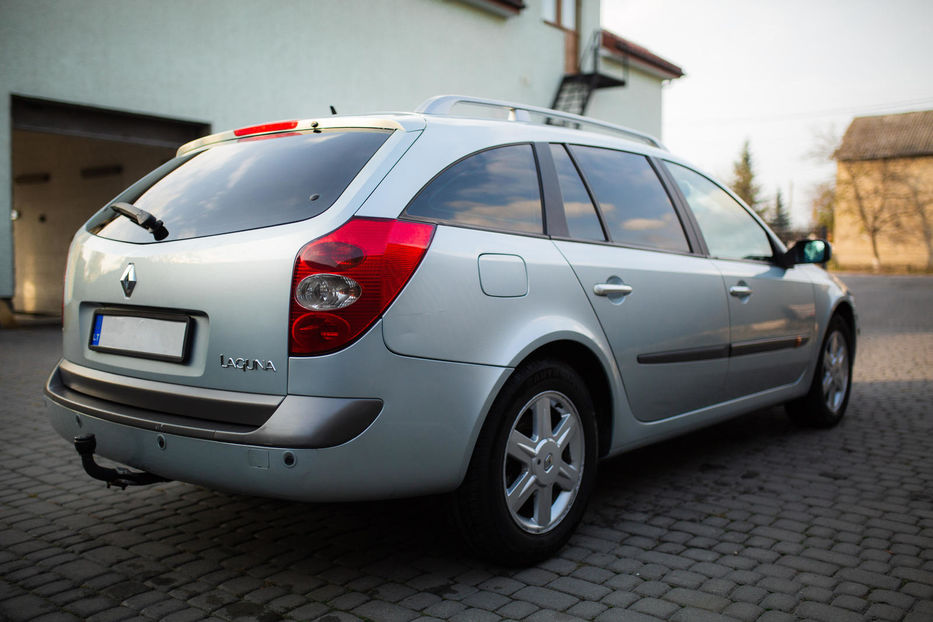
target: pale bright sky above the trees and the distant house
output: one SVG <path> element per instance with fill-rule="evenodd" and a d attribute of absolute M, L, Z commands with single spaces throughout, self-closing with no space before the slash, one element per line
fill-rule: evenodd
<path fill-rule="evenodd" d="M 679 65 L 662 140 L 728 182 L 747 139 L 761 196 L 794 224 L 857 116 L 933 109 L 931 0 L 603 0 L 602 26 Z"/>

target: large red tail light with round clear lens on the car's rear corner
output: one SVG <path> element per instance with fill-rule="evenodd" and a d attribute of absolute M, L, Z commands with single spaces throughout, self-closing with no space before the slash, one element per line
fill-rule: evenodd
<path fill-rule="evenodd" d="M 289 354 L 338 350 L 363 334 L 421 263 L 434 226 L 353 218 L 306 244 L 295 260 Z"/>

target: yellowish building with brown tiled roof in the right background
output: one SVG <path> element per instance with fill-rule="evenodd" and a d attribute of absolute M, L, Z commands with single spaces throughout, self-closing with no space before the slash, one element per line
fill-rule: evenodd
<path fill-rule="evenodd" d="M 933 110 L 859 117 L 836 151 L 843 268 L 933 271 Z"/>

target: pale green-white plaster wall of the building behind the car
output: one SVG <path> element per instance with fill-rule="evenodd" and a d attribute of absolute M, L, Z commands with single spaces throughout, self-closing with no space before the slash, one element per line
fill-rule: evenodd
<path fill-rule="evenodd" d="M 526 4 L 503 18 L 454 0 L 0 0 L 0 298 L 13 291 L 11 94 L 215 131 L 330 105 L 411 110 L 439 93 L 548 106 L 564 34 Z M 599 0 L 583 0 L 580 25 L 585 43 Z M 615 100 L 598 93 L 590 112 L 660 131 L 659 95 Z"/>

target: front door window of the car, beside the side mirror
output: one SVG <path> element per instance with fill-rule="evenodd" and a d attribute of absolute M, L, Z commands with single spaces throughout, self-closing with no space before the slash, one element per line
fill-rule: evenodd
<path fill-rule="evenodd" d="M 711 256 L 771 259 L 774 251 L 768 234 L 728 192 L 696 171 L 673 162 L 665 164 L 687 199 Z"/>

